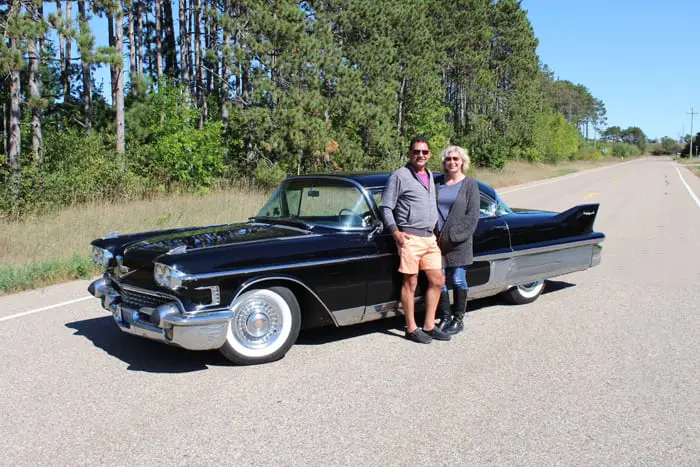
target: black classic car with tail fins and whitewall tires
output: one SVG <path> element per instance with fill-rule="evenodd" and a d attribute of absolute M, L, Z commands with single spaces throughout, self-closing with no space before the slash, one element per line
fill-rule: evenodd
<path fill-rule="evenodd" d="M 395 316 L 399 259 L 377 207 L 387 178 L 290 177 L 245 223 L 109 234 L 92 242 L 105 273 L 89 291 L 126 333 L 238 364 L 281 358 L 302 328 Z M 532 302 L 545 279 L 599 264 L 597 204 L 514 211 L 479 188 L 470 298 Z"/>

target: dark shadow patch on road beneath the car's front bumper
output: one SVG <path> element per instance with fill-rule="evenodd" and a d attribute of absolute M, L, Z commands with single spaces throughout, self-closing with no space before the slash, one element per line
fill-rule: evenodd
<path fill-rule="evenodd" d="M 188 373 L 206 370 L 209 365 L 229 365 L 215 350 L 191 351 L 125 334 L 111 316 L 74 321 L 66 324 L 76 336 L 128 365 L 130 371 L 148 373 Z"/>

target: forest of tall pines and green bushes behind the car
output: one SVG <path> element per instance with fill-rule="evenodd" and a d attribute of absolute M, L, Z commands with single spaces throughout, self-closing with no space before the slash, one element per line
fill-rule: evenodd
<path fill-rule="evenodd" d="M 482 167 L 600 156 L 604 103 L 518 0 L 1 3 L 0 216 L 392 170 L 418 134 Z"/>

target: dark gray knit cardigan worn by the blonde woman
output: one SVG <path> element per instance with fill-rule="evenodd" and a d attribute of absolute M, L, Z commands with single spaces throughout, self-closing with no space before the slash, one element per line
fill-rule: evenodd
<path fill-rule="evenodd" d="M 479 185 L 466 177 L 438 236 L 444 267 L 468 266 L 474 262 L 473 237 L 479 223 L 480 202 Z"/>

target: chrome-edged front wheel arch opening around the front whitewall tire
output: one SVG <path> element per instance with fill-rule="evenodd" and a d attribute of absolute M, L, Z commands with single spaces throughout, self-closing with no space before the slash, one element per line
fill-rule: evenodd
<path fill-rule="evenodd" d="M 248 279 L 238 287 L 230 306 L 248 290 L 282 286 L 290 289 L 301 308 L 301 328 L 310 329 L 323 326 L 338 326 L 330 309 L 323 300 L 302 280 L 288 275 L 263 276 Z"/>

